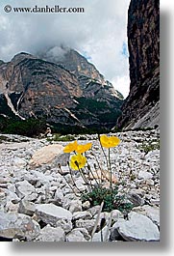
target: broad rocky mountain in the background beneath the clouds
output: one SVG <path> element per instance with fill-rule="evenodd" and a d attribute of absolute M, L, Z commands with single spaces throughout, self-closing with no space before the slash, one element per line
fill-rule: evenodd
<path fill-rule="evenodd" d="M 2 63 L 1 116 L 45 120 L 65 132 L 112 128 L 121 96 L 83 56 L 73 50 L 67 55 L 56 63 L 22 52 Z"/>

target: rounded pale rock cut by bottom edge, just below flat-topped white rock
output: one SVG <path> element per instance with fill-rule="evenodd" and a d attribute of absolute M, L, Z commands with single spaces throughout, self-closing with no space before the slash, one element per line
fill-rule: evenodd
<path fill-rule="evenodd" d="M 41 229 L 36 241 L 39 242 L 64 242 L 65 234 L 60 227 L 50 227 L 49 225 Z"/>

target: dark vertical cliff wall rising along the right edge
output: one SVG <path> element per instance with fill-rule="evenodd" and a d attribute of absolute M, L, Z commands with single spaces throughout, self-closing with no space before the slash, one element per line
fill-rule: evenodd
<path fill-rule="evenodd" d="M 160 123 L 160 1 L 131 1 L 128 46 L 130 94 L 117 124 L 119 128 L 154 127 Z"/>

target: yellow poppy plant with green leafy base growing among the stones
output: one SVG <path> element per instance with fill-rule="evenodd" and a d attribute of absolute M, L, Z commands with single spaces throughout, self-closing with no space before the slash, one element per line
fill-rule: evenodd
<path fill-rule="evenodd" d="M 125 201 L 125 195 L 118 194 L 118 187 L 113 183 L 112 177 L 112 167 L 111 167 L 111 148 L 116 147 L 120 140 L 116 136 L 101 135 L 98 136 L 99 144 L 103 156 L 107 162 L 107 175 L 109 180 L 109 185 L 106 186 L 106 178 L 101 165 L 96 158 L 96 164 L 94 169 L 87 163 L 86 152 L 91 151 L 92 143 L 79 144 L 77 140 L 72 143 L 67 144 L 63 152 L 64 153 L 74 153 L 70 156 L 69 160 L 69 171 L 72 180 L 72 184 L 67 183 L 76 195 L 79 195 L 83 202 L 89 201 L 90 206 L 103 204 L 103 211 L 111 212 L 114 209 L 121 211 L 122 213 L 128 213 L 133 208 L 131 203 Z M 91 155 L 94 153 L 91 151 Z M 62 172 L 61 165 L 60 171 Z M 96 172 L 100 169 L 100 172 Z M 79 171 L 84 184 L 87 186 L 86 190 L 81 191 L 78 185 L 75 183 L 73 170 Z M 94 183 L 91 182 L 91 178 Z M 65 179 L 65 177 L 64 177 Z"/>

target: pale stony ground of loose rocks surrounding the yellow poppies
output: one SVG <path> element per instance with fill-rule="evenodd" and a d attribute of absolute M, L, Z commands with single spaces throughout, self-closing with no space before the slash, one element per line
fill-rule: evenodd
<path fill-rule="evenodd" d="M 134 208 L 128 215 L 102 211 L 99 220 L 106 219 L 103 238 L 111 242 L 159 241 L 160 133 L 125 131 L 115 135 L 121 143 L 111 149 L 112 173 L 119 182 L 118 192 L 126 193 Z M 75 138 L 83 139 L 84 135 Z M 81 141 L 92 142 L 92 153 L 107 168 L 97 135 L 87 135 Z M 100 221 L 92 236 L 100 206 L 90 207 L 69 187 L 73 185 L 66 165 L 69 155 L 62 153 L 67 143 L 0 135 L 1 241 L 90 242 L 92 237 L 92 241 L 101 242 Z M 56 154 L 50 153 L 50 146 L 56 148 Z M 58 168 L 61 159 L 62 173 Z M 96 163 L 91 152 L 87 152 L 87 160 L 90 166 Z M 74 180 L 85 189 L 78 172 Z"/>

